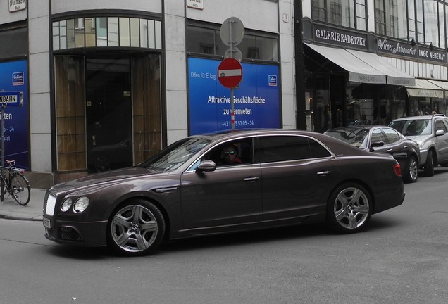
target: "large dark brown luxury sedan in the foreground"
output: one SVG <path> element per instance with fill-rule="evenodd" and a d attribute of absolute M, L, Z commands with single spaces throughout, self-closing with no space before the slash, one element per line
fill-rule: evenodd
<path fill-rule="evenodd" d="M 233 156 L 241 161 L 222 161 Z M 239 131 L 187 137 L 134 167 L 52 186 L 43 224 L 56 243 L 143 255 L 163 239 L 296 224 L 359 232 L 403 200 L 392 156 L 314 132 Z"/>

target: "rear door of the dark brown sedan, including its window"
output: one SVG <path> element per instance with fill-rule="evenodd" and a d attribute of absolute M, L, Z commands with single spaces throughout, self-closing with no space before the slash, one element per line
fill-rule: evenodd
<path fill-rule="evenodd" d="M 326 198 L 337 179 L 337 160 L 305 136 L 259 137 L 265 221 L 325 215 Z"/>

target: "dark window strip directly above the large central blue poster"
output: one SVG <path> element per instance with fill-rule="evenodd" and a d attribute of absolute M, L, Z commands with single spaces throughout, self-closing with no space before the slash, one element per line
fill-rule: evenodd
<path fill-rule="evenodd" d="M 230 49 L 221 41 L 218 28 L 187 25 L 186 37 L 186 49 L 189 53 L 225 56 L 225 52 Z M 246 32 L 236 48 L 241 51 L 242 58 L 278 61 L 278 39 L 273 37 Z"/>

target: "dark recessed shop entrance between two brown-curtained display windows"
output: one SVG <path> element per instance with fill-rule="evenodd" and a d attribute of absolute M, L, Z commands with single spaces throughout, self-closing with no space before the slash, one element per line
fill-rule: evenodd
<path fill-rule="evenodd" d="M 132 165 L 130 58 L 86 58 L 85 77 L 89 171 Z"/>

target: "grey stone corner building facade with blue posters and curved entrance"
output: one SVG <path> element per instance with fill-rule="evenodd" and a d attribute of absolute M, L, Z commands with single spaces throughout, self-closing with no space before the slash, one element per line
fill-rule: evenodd
<path fill-rule="evenodd" d="M 0 6 L 0 91 L 23 101 L 4 107 L 4 153 L 32 186 L 137 164 L 182 137 L 230 129 L 230 89 L 217 75 L 226 57 L 242 64 L 235 128 L 296 127 L 292 0 Z M 238 44 L 221 34 L 230 17 L 243 25 Z"/>

